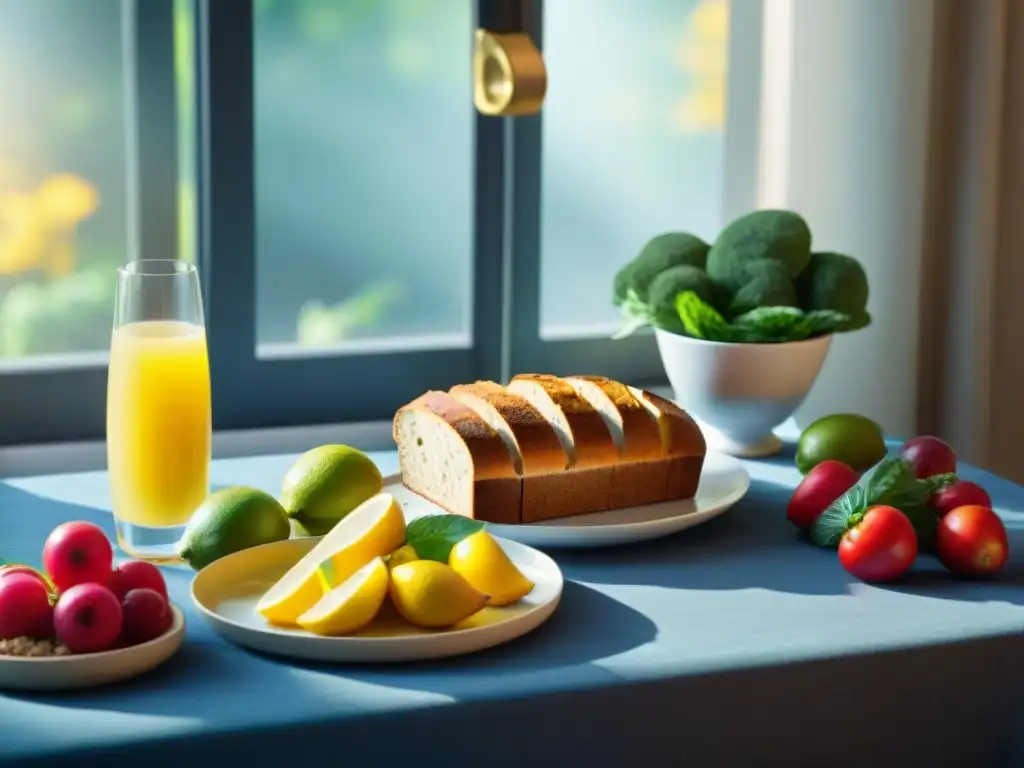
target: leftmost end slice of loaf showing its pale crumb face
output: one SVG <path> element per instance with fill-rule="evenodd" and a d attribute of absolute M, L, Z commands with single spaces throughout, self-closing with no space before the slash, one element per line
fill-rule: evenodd
<path fill-rule="evenodd" d="M 427 392 L 394 416 L 402 482 L 445 511 L 486 522 L 522 520 L 522 479 L 498 432 L 446 392 Z"/>

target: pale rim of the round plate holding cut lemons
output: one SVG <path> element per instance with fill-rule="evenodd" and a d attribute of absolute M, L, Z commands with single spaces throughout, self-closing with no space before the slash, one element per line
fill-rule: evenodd
<path fill-rule="evenodd" d="M 319 540 L 322 538 L 323 537 L 299 537 L 297 539 L 287 539 L 284 541 L 295 542 L 305 539 Z M 203 570 L 206 570 L 206 568 L 203 568 L 203 570 L 200 570 L 194 577 L 191 586 L 189 588 L 189 594 L 191 596 L 193 605 L 199 611 L 200 615 L 202 615 L 204 621 L 206 621 L 206 623 L 210 625 L 214 630 L 217 630 L 218 634 L 221 634 L 218 630 L 218 627 L 220 625 L 223 625 L 225 627 L 229 627 L 232 632 L 239 633 L 241 635 L 258 635 L 258 636 L 262 635 L 262 636 L 279 637 L 279 638 L 291 637 L 293 639 L 297 639 L 298 642 L 302 643 L 303 645 L 315 645 L 316 647 L 337 647 L 337 648 L 349 647 L 353 649 L 354 648 L 365 649 L 372 647 L 388 647 L 388 646 L 407 645 L 407 644 L 412 645 L 416 643 L 422 643 L 424 645 L 433 645 L 438 642 L 437 640 L 438 637 L 443 637 L 445 639 L 450 638 L 454 639 L 453 642 L 461 640 L 465 640 L 468 642 L 475 636 L 495 633 L 496 627 L 502 627 L 503 625 L 506 625 L 508 622 L 515 622 L 517 624 L 521 624 L 524 627 L 522 632 L 518 632 L 514 636 L 507 637 L 497 642 L 487 643 L 485 645 L 475 646 L 472 651 L 459 650 L 450 653 L 443 653 L 441 655 L 435 653 L 426 654 L 422 656 L 410 655 L 408 657 L 402 657 L 400 659 L 381 658 L 368 662 L 351 659 L 343 662 L 343 664 L 381 664 L 381 663 L 390 664 L 394 662 L 416 662 L 416 660 L 425 660 L 429 658 L 464 655 L 469 652 L 483 650 L 484 648 L 494 647 L 496 645 L 504 645 L 507 642 L 511 642 L 512 640 L 522 637 L 523 635 L 529 634 L 538 627 L 543 625 L 555 612 L 559 603 L 561 602 L 562 592 L 564 591 L 565 575 L 562 573 L 562 569 L 558 566 L 558 563 L 555 562 L 554 558 L 552 558 L 547 553 L 542 552 L 541 550 L 536 549 L 534 547 L 530 547 L 529 545 L 522 544 L 521 542 L 512 541 L 509 539 L 505 539 L 503 537 L 495 537 L 495 539 L 499 542 L 499 544 L 502 545 L 502 548 L 505 549 L 506 552 L 509 552 L 508 548 L 511 548 L 513 552 L 516 549 L 527 550 L 530 553 L 531 557 L 539 559 L 542 563 L 541 567 L 546 572 L 550 571 L 551 573 L 550 579 L 546 579 L 546 585 L 554 590 L 554 594 L 545 602 L 539 603 L 538 605 L 534 605 L 529 609 L 522 611 L 521 613 L 518 613 L 515 616 L 510 616 L 506 621 L 495 622 L 492 624 L 480 625 L 477 627 L 467 627 L 460 630 L 445 630 L 443 632 L 437 632 L 431 634 L 392 635 L 385 637 L 357 637 L 357 636 L 327 637 L 321 635 L 313 635 L 312 633 L 286 635 L 285 633 L 276 632 L 273 631 L 272 629 L 264 629 L 259 627 L 253 627 L 247 624 L 242 624 L 241 622 L 229 618 L 223 615 L 222 613 L 219 613 L 218 611 L 207 607 L 207 605 L 202 600 L 200 600 L 200 598 L 196 595 L 196 585 L 200 581 L 203 574 Z M 227 555 L 227 557 L 241 557 L 245 556 L 247 553 L 251 553 L 252 550 L 254 549 L 259 549 L 264 547 L 276 547 L 280 546 L 282 542 L 271 542 L 269 544 L 260 545 L 258 548 L 253 547 L 248 550 L 242 550 L 240 552 L 232 553 L 230 555 Z M 509 552 L 509 554 L 511 556 L 513 553 Z M 513 556 L 513 560 L 515 558 Z M 213 563 L 208 565 L 207 568 L 211 567 Z M 222 634 L 221 636 L 224 637 L 224 635 Z M 246 645 L 247 647 L 254 648 L 256 650 L 259 650 L 260 652 L 272 653 L 273 655 L 292 657 L 292 658 L 328 660 L 321 655 L 306 655 L 301 652 L 285 653 L 281 650 L 267 650 L 264 647 L 247 644 L 243 640 L 236 639 L 234 636 L 225 637 L 225 639 L 231 642 L 236 642 L 240 645 Z"/>

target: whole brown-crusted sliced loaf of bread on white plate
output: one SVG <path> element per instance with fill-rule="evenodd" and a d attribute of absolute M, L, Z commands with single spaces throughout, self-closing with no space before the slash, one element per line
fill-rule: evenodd
<path fill-rule="evenodd" d="M 674 402 L 600 376 L 427 392 L 395 414 L 394 439 L 408 487 L 506 524 L 692 498 L 707 453 Z"/>

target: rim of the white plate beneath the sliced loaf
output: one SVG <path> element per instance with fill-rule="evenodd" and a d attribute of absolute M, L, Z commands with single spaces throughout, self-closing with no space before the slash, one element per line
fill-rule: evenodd
<path fill-rule="evenodd" d="M 701 470 L 701 475 L 707 471 L 707 465 L 709 460 L 714 461 L 721 466 L 722 470 L 735 472 L 737 475 L 737 483 L 734 488 L 731 488 L 728 493 L 723 494 L 721 497 L 708 503 L 708 507 L 705 509 L 693 509 L 687 510 L 685 512 L 668 515 L 666 517 L 658 517 L 652 520 L 638 520 L 635 522 L 617 522 L 617 523 L 603 523 L 599 525 L 558 525 L 552 523 L 549 520 L 541 520 L 538 522 L 527 522 L 520 523 L 517 525 L 509 525 L 505 523 L 486 523 L 489 530 L 493 530 L 495 536 L 500 536 L 506 540 L 511 540 L 531 548 L 537 547 L 551 547 L 558 549 L 596 549 L 608 546 L 618 546 L 630 543 L 636 543 L 640 541 L 646 541 L 652 538 L 659 538 L 663 536 L 671 536 L 677 532 L 678 528 L 675 524 L 687 517 L 694 515 L 706 515 L 706 518 L 701 522 L 707 522 L 708 520 L 714 519 L 720 514 L 728 511 L 734 505 L 736 505 L 751 489 L 751 473 L 736 458 L 728 456 L 727 454 L 710 452 L 705 457 L 705 469 Z M 385 475 L 383 478 L 383 484 L 385 490 L 388 485 L 400 484 L 401 483 L 401 472 L 392 472 Z M 413 493 L 413 492 L 410 492 Z M 697 492 L 699 494 L 699 489 Z M 422 498 L 422 497 L 420 497 Z M 695 497 L 694 497 L 695 498 Z M 427 499 L 423 500 L 427 504 L 434 505 Z M 680 500 L 681 502 L 692 501 L 690 499 Z M 662 502 L 665 504 L 665 502 Z M 670 502 L 671 503 L 671 502 Z M 606 510 L 603 512 L 595 512 L 592 514 L 606 514 L 608 511 L 625 512 L 630 509 L 636 509 L 635 507 L 622 507 L 617 510 Z M 573 515 L 570 519 L 586 519 L 588 515 Z M 699 524 L 699 523 L 697 523 Z M 531 531 L 543 531 L 538 534 L 539 537 L 544 537 L 546 534 L 551 536 L 552 539 L 561 538 L 559 541 L 546 542 L 541 545 L 538 544 L 536 539 L 531 538 L 529 543 L 525 541 L 520 541 L 515 538 L 517 530 L 531 530 Z M 588 532 L 600 532 L 602 537 L 607 538 L 609 541 L 602 541 L 600 543 L 592 542 L 589 544 L 572 543 L 572 539 L 582 539 Z M 573 534 L 578 536 L 573 537 Z M 504 536 L 503 536 L 504 535 Z M 615 537 L 622 537 L 616 539 Z"/>

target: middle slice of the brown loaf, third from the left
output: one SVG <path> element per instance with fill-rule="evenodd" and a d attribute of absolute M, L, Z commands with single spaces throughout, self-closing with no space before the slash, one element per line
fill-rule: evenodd
<path fill-rule="evenodd" d="M 548 374 L 519 374 L 508 388 L 551 423 L 568 456 L 569 469 L 547 486 L 548 508 L 559 516 L 612 509 L 620 451 L 597 410 L 571 384 Z"/>

